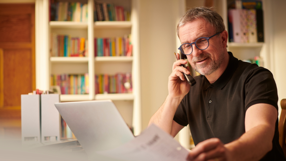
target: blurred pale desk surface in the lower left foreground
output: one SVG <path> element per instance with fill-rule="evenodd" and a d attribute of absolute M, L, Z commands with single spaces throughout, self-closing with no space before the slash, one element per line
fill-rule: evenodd
<path fill-rule="evenodd" d="M 77 140 L 21 145 L 21 141 L 0 141 L 0 160 L 87 161 L 88 156 Z"/>

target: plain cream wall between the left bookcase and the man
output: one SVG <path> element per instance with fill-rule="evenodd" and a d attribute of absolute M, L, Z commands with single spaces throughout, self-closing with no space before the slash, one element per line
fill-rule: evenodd
<path fill-rule="evenodd" d="M 182 15 L 177 0 L 140 0 L 142 129 L 168 95 L 175 61 L 176 25 Z"/>

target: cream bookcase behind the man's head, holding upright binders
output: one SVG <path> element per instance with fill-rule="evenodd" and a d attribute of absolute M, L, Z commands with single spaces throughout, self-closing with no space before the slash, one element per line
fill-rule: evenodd
<path fill-rule="evenodd" d="M 230 4 L 234 0 L 214 0 L 213 6 L 215 7 L 215 10 L 222 16 L 224 20 L 224 24 L 226 26 L 226 30 L 228 30 L 228 4 Z M 198 7 L 198 6 L 204 6 L 205 1 L 196 1 L 196 0 L 185 0 L 185 6 L 182 6 L 181 10 L 184 12 L 190 7 Z M 265 11 L 265 0 L 262 0 L 262 10 Z M 183 14 L 183 13 L 182 13 Z M 264 17 L 264 35 L 267 35 L 265 30 L 265 15 L 266 13 L 264 12 L 263 17 Z M 265 41 L 267 40 L 264 37 Z M 176 44 L 177 46 L 181 45 L 180 40 L 177 38 L 176 39 Z M 260 56 L 262 57 L 263 61 L 266 63 L 269 61 L 267 59 L 267 54 L 265 47 L 266 43 L 265 42 L 252 42 L 252 43 L 235 43 L 235 42 L 228 42 L 228 51 L 232 52 L 234 57 L 238 58 L 239 60 L 244 60 L 244 59 L 250 59 L 254 58 L 255 56 Z M 179 51 L 178 51 L 179 52 Z M 269 64 L 269 63 L 268 63 Z M 179 136 L 179 142 L 181 145 L 183 145 L 185 148 L 192 149 L 195 147 L 194 144 L 190 144 L 190 139 L 191 139 L 191 134 L 190 134 L 190 129 L 189 126 L 184 127 L 178 134 Z"/>

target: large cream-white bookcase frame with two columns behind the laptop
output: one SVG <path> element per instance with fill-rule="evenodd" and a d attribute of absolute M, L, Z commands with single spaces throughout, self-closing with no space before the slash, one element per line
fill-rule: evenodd
<path fill-rule="evenodd" d="M 64 2 L 65 0 L 59 0 Z M 66 0 L 69 1 L 70 0 Z M 94 22 L 94 0 L 71 0 L 88 5 L 87 22 L 74 21 L 49 21 L 49 14 L 44 15 L 47 26 L 41 28 L 46 35 L 39 43 L 41 47 L 48 49 L 43 57 L 46 69 L 41 68 L 40 72 L 45 75 L 44 81 L 50 86 L 50 75 L 54 74 L 84 74 L 88 73 L 89 93 L 88 94 L 63 94 L 60 95 L 61 102 L 104 100 L 114 101 L 129 126 L 133 127 L 135 135 L 141 132 L 141 96 L 140 96 L 140 70 L 139 70 L 139 26 L 138 26 L 138 5 L 137 0 L 101 0 L 100 2 L 110 2 L 114 5 L 123 6 L 130 11 L 130 21 L 95 21 Z M 43 0 L 40 5 L 43 10 L 49 13 L 49 1 Z M 52 57 L 52 33 L 58 35 L 71 35 L 71 37 L 83 37 L 88 40 L 88 56 L 86 57 Z M 132 35 L 132 56 L 94 56 L 94 38 L 123 37 Z M 46 50 L 47 51 L 47 50 Z M 97 74 L 114 75 L 118 72 L 129 72 L 132 74 L 132 93 L 95 94 L 95 78 Z M 43 79 L 42 79 L 43 80 Z"/>

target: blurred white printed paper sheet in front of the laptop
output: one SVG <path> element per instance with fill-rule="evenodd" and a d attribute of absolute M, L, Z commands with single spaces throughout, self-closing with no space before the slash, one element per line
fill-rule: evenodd
<path fill-rule="evenodd" d="M 126 161 L 185 161 L 189 151 L 155 125 L 117 148 L 97 154 Z"/>

